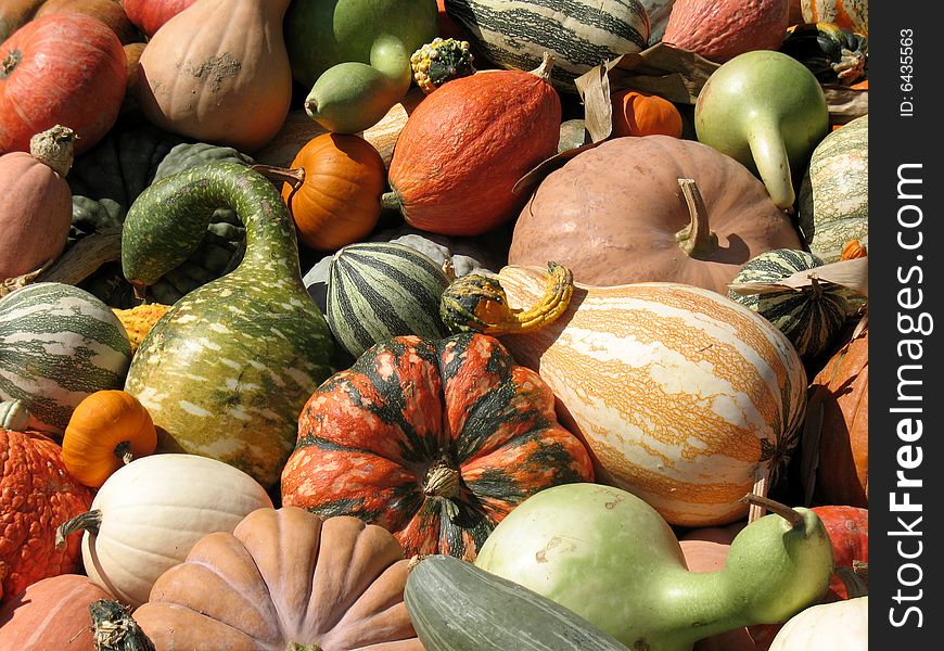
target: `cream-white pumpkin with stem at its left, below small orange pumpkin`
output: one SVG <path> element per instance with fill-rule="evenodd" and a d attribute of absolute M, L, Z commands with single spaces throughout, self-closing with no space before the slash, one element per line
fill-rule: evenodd
<path fill-rule="evenodd" d="M 258 482 L 222 461 L 183 454 L 136 459 L 110 475 L 92 500 L 98 532 L 82 535 L 86 573 L 137 608 L 197 540 L 231 533 L 251 512 L 271 507 Z"/>

